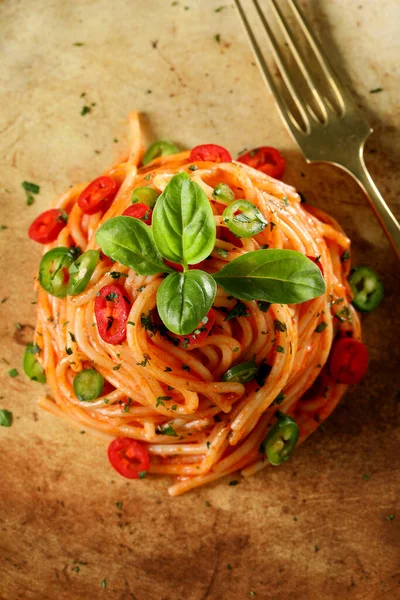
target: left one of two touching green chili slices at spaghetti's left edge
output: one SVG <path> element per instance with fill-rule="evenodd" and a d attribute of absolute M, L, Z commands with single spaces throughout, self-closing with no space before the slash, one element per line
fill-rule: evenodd
<path fill-rule="evenodd" d="M 69 267 L 79 254 L 79 248 L 64 246 L 46 252 L 39 266 L 39 283 L 46 292 L 56 298 L 65 298 L 68 292 Z"/>

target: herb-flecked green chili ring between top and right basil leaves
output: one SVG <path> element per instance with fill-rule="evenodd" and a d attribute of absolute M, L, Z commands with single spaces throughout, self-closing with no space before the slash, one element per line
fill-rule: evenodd
<path fill-rule="evenodd" d="M 224 223 L 236 237 L 251 237 L 268 225 L 264 215 L 247 200 L 236 200 L 222 213 Z"/>

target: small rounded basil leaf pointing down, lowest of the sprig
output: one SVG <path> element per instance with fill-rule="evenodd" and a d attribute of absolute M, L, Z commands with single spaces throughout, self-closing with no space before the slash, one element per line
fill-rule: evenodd
<path fill-rule="evenodd" d="M 157 291 L 161 320 L 173 333 L 191 333 L 210 310 L 216 291 L 214 279 L 204 271 L 171 273 Z"/>

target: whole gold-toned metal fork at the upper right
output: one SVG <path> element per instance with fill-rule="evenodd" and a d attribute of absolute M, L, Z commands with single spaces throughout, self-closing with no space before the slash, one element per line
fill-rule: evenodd
<path fill-rule="evenodd" d="M 372 133 L 372 128 L 364 119 L 362 113 L 354 102 L 349 90 L 343 85 L 335 73 L 320 42 L 312 33 L 310 26 L 304 18 L 296 0 L 287 0 L 294 16 L 312 48 L 319 63 L 319 67 L 325 74 L 328 84 L 334 94 L 339 110 L 335 110 L 332 103 L 324 97 L 320 86 L 316 83 L 304 58 L 304 54 L 293 37 L 292 31 L 284 18 L 277 0 L 269 0 L 270 6 L 276 17 L 289 49 L 312 93 L 315 103 L 319 107 L 322 118 L 316 115 L 310 104 L 304 99 L 299 91 L 287 62 L 279 48 L 276 38 L 262 12 L 257 0 L 252 0 L 254 7 L 261 20 L 268 42 L 271 46 L 272 56 L 281 72 L 285 85 L 299 111 L 304 124 L 296 120 L 293 111 L 290 110 L 286 100 L 279 93 L 277 85 L 263 57 L 259 44 L 254 36 L 240 0 L 235 0 L 239 16 L 243 23 L 245 32 L 253 47 L 254 54 L 260 69 L 268 82 L 281 117 L 300 147 L 306 161 L 332 163 L 354 177 L 361 188 L 367 194 L 371 206 L 382 225 L 393 249 L 400 258 L 400 225 L 393 213 L 379 193 L 375 183 L 364 163 L 364 144 Z"/>

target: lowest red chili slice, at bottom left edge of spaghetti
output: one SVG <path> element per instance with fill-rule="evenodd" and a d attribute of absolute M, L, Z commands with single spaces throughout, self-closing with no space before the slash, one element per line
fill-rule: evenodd
<path fill-rule="evenodd" d="M 146 448 L 131 438 L 117 438 L 108 446 L 108 459 L 116 471 L 128 479 L 138 479 L 150 467 Z"/>

